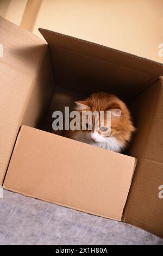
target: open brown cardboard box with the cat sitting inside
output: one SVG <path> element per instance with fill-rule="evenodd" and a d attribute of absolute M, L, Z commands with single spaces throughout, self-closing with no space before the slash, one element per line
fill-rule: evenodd
<path fill-rule="evenodd" d="M 40 32 L 48 44 L 0 19 L 1 185 L 163 237 L 163 65 Z M 101 90 L 133 114 L 137 131 L 125 154 L 49 132 L 54 110 Z"/>

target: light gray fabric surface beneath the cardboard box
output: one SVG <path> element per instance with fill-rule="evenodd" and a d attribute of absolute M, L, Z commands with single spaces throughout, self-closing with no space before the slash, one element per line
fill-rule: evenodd
<path fill-rule="evenodd" d="M 129 224 L 4 190 L 0 245 L 163 245 Z"/>

